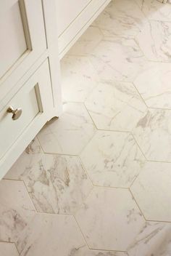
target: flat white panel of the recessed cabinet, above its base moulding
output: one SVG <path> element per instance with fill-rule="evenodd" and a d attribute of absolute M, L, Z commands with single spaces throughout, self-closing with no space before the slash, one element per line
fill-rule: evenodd
<path fill-rule="evenodd" d="M 91 0 L 57 0 L 58 36 L 90 2 Z"/>

